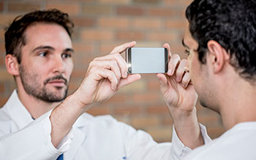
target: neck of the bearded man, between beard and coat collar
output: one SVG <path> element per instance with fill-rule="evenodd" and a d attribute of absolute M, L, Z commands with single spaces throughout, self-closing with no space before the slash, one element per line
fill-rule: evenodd
<path fill-rule="evenodd" d="M 18 85 L 18 97 L 34 119 L 37 119 L 39 116 L 55 108 L 56 105 L 59 105 L 59 103 L 48 103 L 32 95 L 28 95 L 22 85 L 21 87 Z"/>

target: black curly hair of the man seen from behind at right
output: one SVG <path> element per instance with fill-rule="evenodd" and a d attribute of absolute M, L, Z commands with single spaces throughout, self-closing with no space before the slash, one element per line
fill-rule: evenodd
<path fill-rule="evenodd" d="M 217 41 L 230 54 L 236 72 L 256 79 L 256 1 L 195 0 L 187 7 L 189 31 L 198 42 L 198 58 L 206 63 L 207 43 Z"/>

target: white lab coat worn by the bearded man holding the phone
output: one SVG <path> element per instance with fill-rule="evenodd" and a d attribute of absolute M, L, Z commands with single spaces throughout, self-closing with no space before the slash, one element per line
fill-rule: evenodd
<path fill-rule="evenodd" d="M 0 159 L 181 159 L 191 151 L 173 129 L 173 143 L 156 143 L 148 133 L 135 130 L 112 116 L 84 113 L 57 148 L 50 141 L 51 111 L 33 120 L 14 91 L 0 109 Z M 204 140 L 210 138 L 201 127 Z"/>

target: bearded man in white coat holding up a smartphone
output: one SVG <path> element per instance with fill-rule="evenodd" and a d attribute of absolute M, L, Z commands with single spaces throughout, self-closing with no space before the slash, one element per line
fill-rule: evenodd
<path fill-rule="evenodd" d="M 17 89 L 0 109 L 0 159 L 180 159 L 207 143 L 195 113 L 197 95 L 184 70 L 187 60 L 178 55 L 169 55 L 169 71 L 163 75 L 172 81 L 165 101 L 175 126 L 173 143 L 155 143 L 146 132 L 111 116 L 86 113 L 140 79 L 139 74 L 127 75 L 120 55 L 135 41 L 95 58 L 80 87 L 66 98 L 73 68 L 72 27 L 67 14 L 53 9 L 18 17 L 7 29 L 5 63 Z M 191 98 L 183 100 L 187 95 Z"/>

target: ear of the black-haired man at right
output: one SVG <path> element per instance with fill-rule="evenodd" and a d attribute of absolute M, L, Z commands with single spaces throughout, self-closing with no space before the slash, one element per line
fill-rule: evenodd
<path fill-rule="evenodd" d="M 227 51 L 217 42 L 217 41 L 208 41 L 208 60 L 211 63 L 214 73 L 222 71 L 225 64 L 230 60 L 230 54 L 227 54 Z"/>

